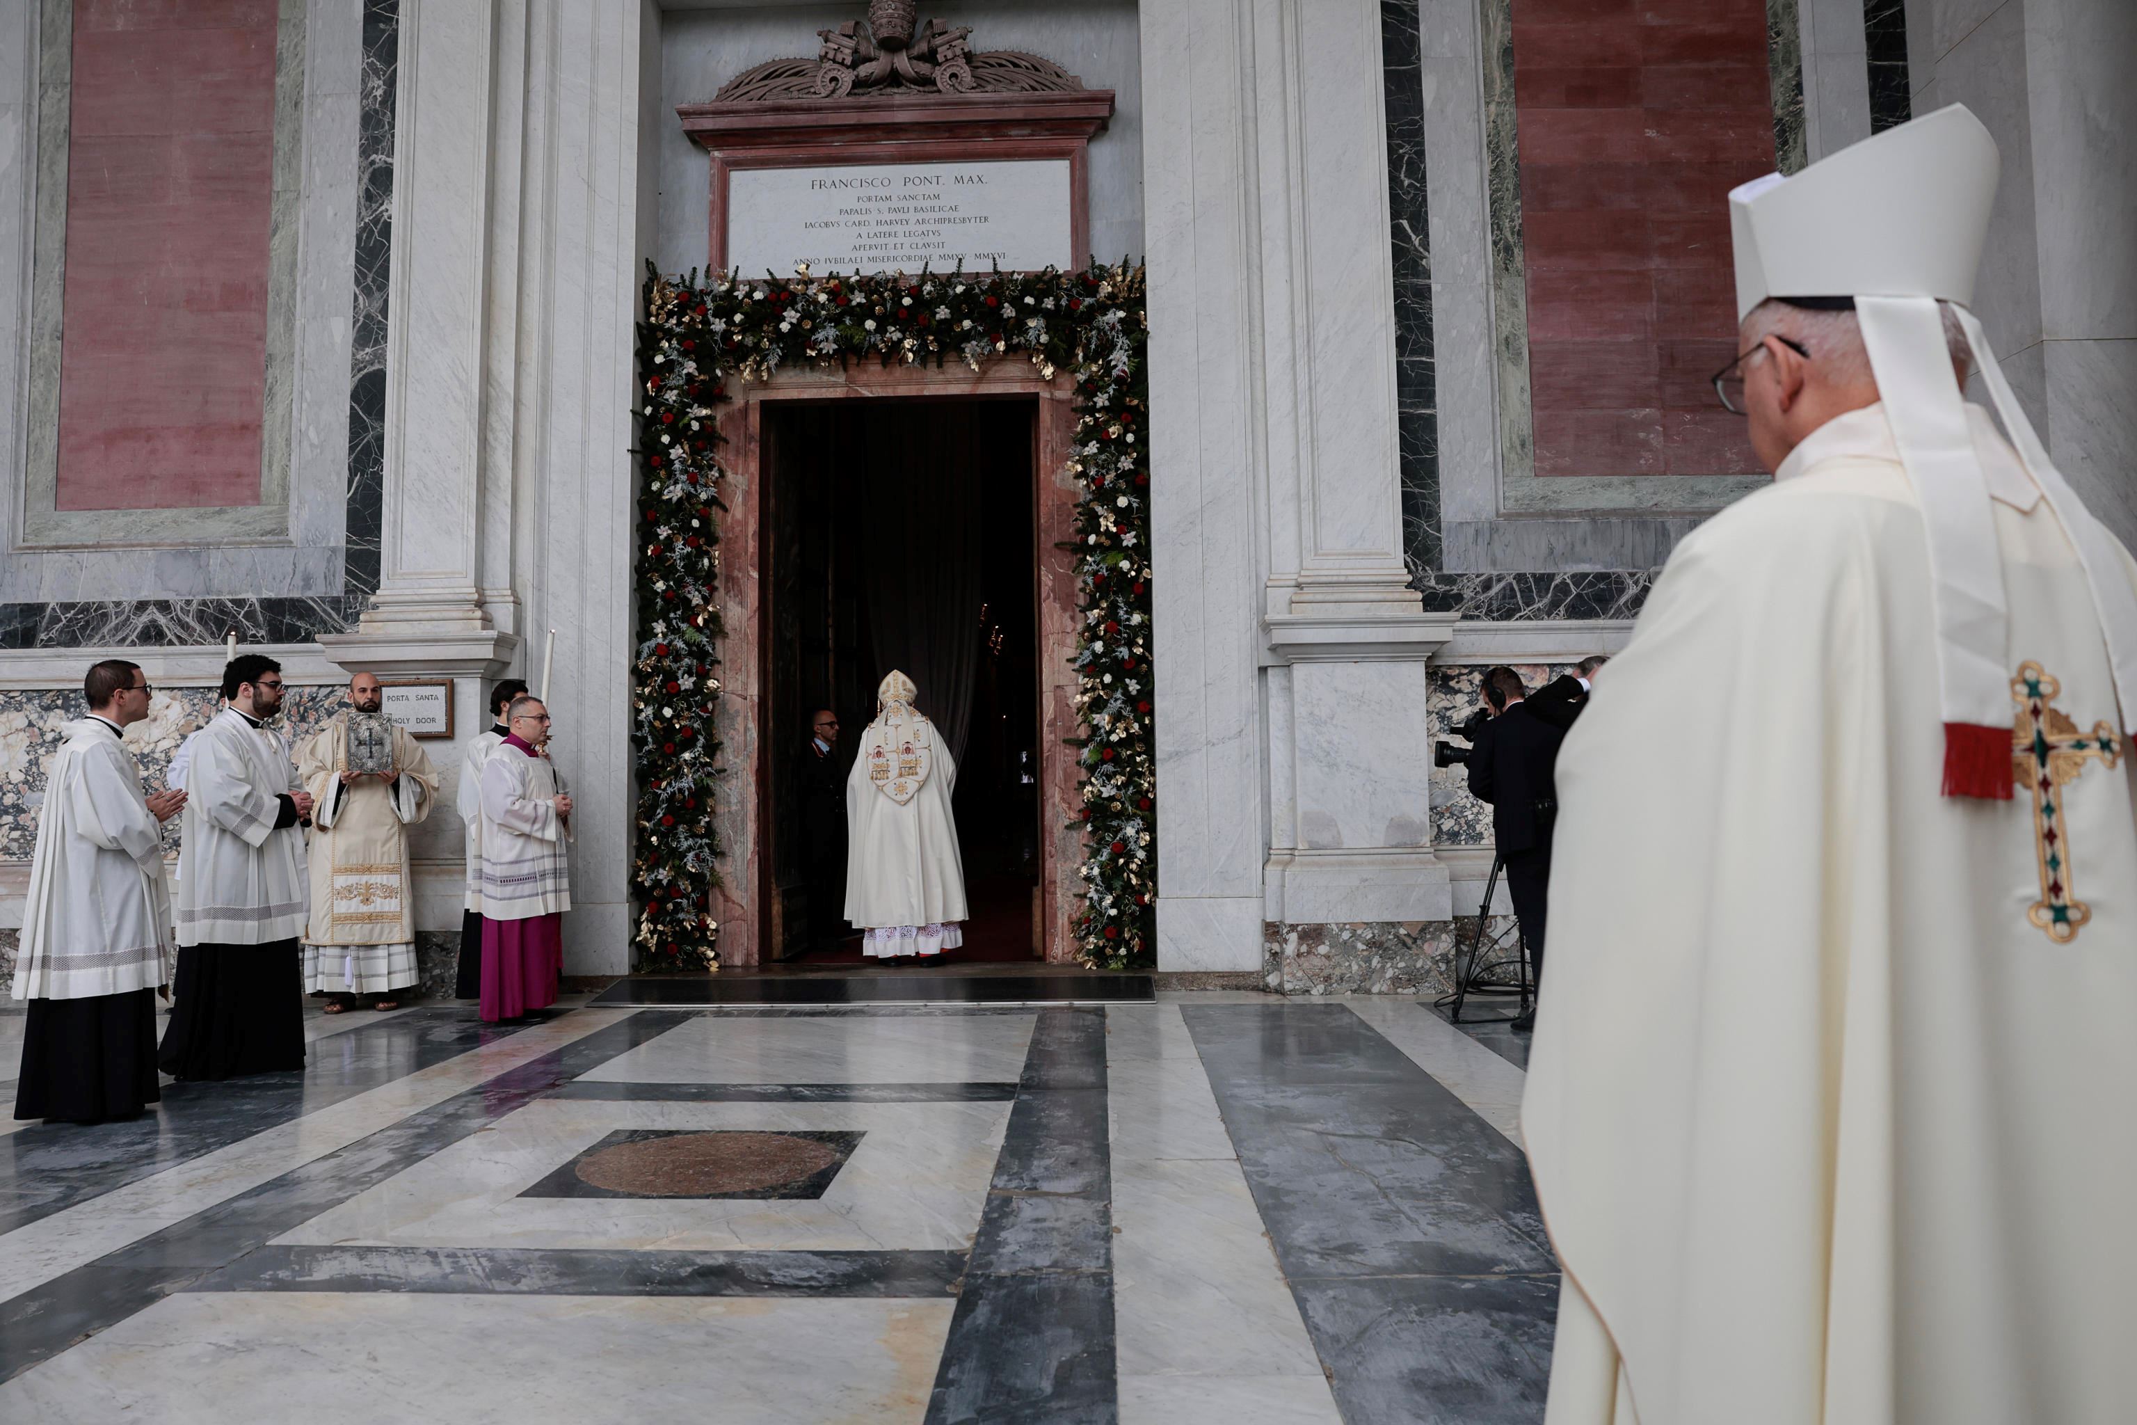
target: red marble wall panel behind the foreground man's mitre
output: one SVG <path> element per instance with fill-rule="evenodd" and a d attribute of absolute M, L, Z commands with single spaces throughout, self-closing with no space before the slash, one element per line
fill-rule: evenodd
<path fill-rule="evenodd" d="M 1765 0 L 1513 0 L 1537 474 L 1746 474 L 1731 186 L 1774 167 Z"/>

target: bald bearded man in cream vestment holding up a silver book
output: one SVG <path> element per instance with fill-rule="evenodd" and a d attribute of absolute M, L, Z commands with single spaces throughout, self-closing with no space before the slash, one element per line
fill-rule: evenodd
<path fill-rule="evenodd" d="M 357 673 L 348 711 L 297 748 L 297 776 L 312 793 L 303 987 L 336 996 L 327 1013 L 357 1002 L 397 1008 L 397 991 L 421 978 L 408 827 L 430 816 L 438 773 L 423 743 L 387 720 L 383 696 L 374 675 Z"/>

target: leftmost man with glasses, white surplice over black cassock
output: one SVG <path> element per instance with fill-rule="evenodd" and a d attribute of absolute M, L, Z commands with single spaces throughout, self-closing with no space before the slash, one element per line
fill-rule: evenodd
<path fill-rule="evenodd" d="M 26 1000 L 15 1117 L 103 1124 L 160 1098 L 156 991 L 177 940 L 160 825 L 184 793 L 145 795 L 124 729 L 147 716 L 141 667 L 109 658 L 83 679 L 90 711 L 45 771 L 30 897 L 15 961 Z"/>

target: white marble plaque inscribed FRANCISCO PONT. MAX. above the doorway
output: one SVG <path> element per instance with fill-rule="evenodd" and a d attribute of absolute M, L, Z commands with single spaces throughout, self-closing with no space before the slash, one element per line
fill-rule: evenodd
<path fill-rule="evenodd" d="M 735 169 L 727 265 L 744 276 L 810 271 L 1068 269 L 1066 158 Z"/>

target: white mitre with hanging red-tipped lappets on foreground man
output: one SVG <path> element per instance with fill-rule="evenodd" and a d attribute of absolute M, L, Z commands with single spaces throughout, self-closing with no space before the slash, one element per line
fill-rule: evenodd
<path fill-rule="evenodd" d="M 2077 500 L 2011 395 L 1966 308 L 1996 197 L 1996 141 L 1951 105 L 1729 194 L 1737 316 L 1769 297 L 1853 297 L 1870 370 L 1915 485 L 1936 581 L 1936 667 L 1945 795 L 2011 795 L 2011 671 L 2002 562 L 1987 476 L 1945 346 L 1953 303 L 1975 370 L 2011 444 L 2071 534 L 2113 664 L 2124 731 L 2137 733 L 2137 594 L 2113 536 Z"/>

